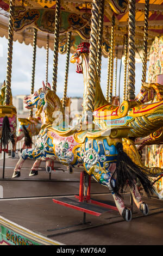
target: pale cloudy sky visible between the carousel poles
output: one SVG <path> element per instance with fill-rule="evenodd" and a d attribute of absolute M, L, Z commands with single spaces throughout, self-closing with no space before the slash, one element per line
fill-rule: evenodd
<path fill-rule="evenodd" d="M 7 50 L 8 40 L 0 37 L 0 82 L 6 79 L 7 72 Z M 72 54 L 70 54 L 70 57 Z M 32 81 L 32 58 L 33 47 L 32 45 L 20 44 L 18 41 L 13 44 L 12 56 L 12 74 L 11 74 L 11 90 L 12 95 L 29 95 L 30 86 Z M 115 62 L 115 61 L 114 61 Z M 60 54 L 58 57 L 58 75 L 57 75 L 57 94 L 62 97 L 64 93 L 65 81 L 65 64 L 66 54 Z M 117 63 L 117 90 L 120 76 L 121 60 L 118 59 Z M 115 66 L 115 63 L 114 63 Z M 48 62 L 48 82 L 52 84 L 52 70 L 53 70 L 53 51 L 49 50 Z M 76 66 L 73 63 L 69 64 L 68 72 L 68 89 L 67 96 L 69 97 L 83 97 L 84 83 L 83 75 L 76 73 Z M 106 94 L 108 73 L 108 59 L 102 57 L 101 68 L 101 87 L 103 94 Z M 123 97 L 123 76 L 124 65 L 122 64 L 121 77 L 120 77 L 120 96 Z M 139 93 L 141 87 L 142 76 L 142 63 L 135 64 L 135 95 Z M 114 72 L 115 77 L 115 72 Z M 113 78 L 114 78 L 113 77 Z M 35 89 L 42 87 L 42 81 L 46 80 L 46 50 L 45 48 L 36 47 L 36 66 L 35 66 Z M 115 81 L 115 80 L 114 80 Z M 115 82 L 113 82 L 115 84 Z M 114 92 L 114 89 L 113 89 Z"/>

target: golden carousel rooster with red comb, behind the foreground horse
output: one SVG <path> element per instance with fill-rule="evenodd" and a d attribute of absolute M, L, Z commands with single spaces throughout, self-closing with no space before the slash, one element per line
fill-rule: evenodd
<path fill-rule="evenodd" d="M 90 44 L 87 42 L 78 45 L 77 50 L 70 59 L 70 62 L 77 66 L 76 72 L 79 74 L 83 73 L 84 99 L 87 95 L 89 47 Z M 123 138 L 124 151 L 126 151 L 133 162 L 139 166 L 145 167 L 136 149 L 134 140 L 139 137 L 148 136 L 163 126 L 163 101 L 141 104 L 139 101 L 124 100 L 120 106 L 112 105 L 106 101 L 102 93 L 96 71 L 95 100 L 93 107 L 95 109 L 93 112 L 93 120 L 101 129 L 117 125 L 131 127 L 127 138 Z M 85 112 L 84 104 L 83 109 Z M 146 172 L 149 175 L 158 176 L 162 173 L 162 170 L 159 167 L 153 167 L 146 169 Z"/>

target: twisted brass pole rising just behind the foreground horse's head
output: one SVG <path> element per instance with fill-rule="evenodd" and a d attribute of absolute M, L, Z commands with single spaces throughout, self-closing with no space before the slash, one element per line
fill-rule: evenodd
<path fill-rule="evenodd" d="M 55 93 L 56 93 L 56 90 L 57 90 L 60 7 L 61 7 L 61 1 L 60 0 L 56 0 L 56 5 L 55 5 L 55 26 L 54 26 L 53 78 L 52 78 L 52 90 Z"/>

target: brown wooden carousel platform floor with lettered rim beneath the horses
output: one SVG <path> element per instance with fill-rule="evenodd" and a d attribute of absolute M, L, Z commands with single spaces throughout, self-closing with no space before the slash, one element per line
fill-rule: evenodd
<path fill-rule="evenodd" d="M 55 172 L 45 171 L 41 163 L 39 175 L 30 177 L 33 161 L 27 160 L 21 176 L 12 179 L 18 159 L 7 158 L 4 179 L 0 160 L 0 243 L 1 245 L 162 245 L 163 201 L 156 197 L 143 200 L 149 215 L 143 216 L 133 207 L 133 220 L 126 222 L 120 214 L 104 206 L 93 205 L 95 216 L 58 202 L 78 205 L 80 172 L 70 174 L 55 163 Z M 65 172 L 63 172 L 65 170 Z M 108 189 L 91 180 L 91 200 L 114 206 Z M 130 193 L 124 193 L 130 207 Z M 72 203 L 73 202 L 73 203 Z M 86 205 L 85 205 L 86 204 Z M 81 205 L 80 205 L 81 206 Z M 90 203 L 84 209 L 92 210 Z"/>

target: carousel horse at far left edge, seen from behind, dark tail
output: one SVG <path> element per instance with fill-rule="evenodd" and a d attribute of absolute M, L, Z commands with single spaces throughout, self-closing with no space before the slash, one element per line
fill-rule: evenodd
<path fill-rule="evenodd" d="M 16 127 L 17 127 L 17 112 L 16 108 L 12 104 L 12 94 L 10 92 L 10 105 L 5 105 L 5 81 L 1 88 L 0 94 L 0 139 L 1 149 L 2 146 L 8 147 L 8 143 L 12 143 L 11 157 L 15 157 L 16 151 Z"/>

